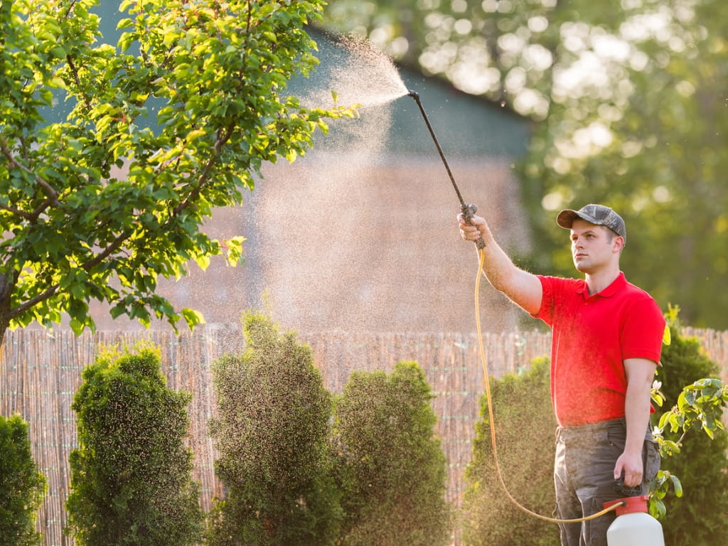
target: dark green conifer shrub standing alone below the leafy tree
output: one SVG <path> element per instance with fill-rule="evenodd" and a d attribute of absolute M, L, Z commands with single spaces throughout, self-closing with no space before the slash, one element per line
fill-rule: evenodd
<path fill-rule="evenodd" d="M 202 537 L 199 486 L 191 481 L 191 395 L 166 386 L 159 351 L 108 350 L 83 371 L 71 406 L 68 531 L 79 546 L 186 546 Z"/>

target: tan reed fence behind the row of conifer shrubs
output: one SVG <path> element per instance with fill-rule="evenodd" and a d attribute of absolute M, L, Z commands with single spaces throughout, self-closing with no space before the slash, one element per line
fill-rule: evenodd
<path fill-rule="evenodd" d="M 728 332 L 686 330 L 697 336 L 705 351 L 721 365 L 728 381 Z M 464 489 L 463 472 L 470 462 L 483 372 L 475 334 L 459 333 L 300 333 L 309 344 L 325 386 L 341 392 L 355 370 L 391 371 L 400 360 L 416 360 L 427 376 L 435 397 L 437 433 L 449 465 L 448 500 L 459 505 Z M 237 328 L 198 328 L 174 336 L 164 331 L 143 333 L 98 332 L 74 336 L 66 331 L 8 332 L 0 351 L 0 414 L 20 414 L 29 423 L 31 448 L 48 492 L 39 512 L 44 546 L 70 546 L 63 534 L 69 487 L 68 455 L 77 446 L 76 417 L 71 410 L 83 368 L 92 363 L 103 345 L 123 345 L 139 340 L 156 344 L 162 352 L 167 384 L 193 395 L 189 406 L 189 446 L 194 452 L 194 479 L 201 485 L 201 503 L 209 510 L 221 494 L 215 480 L 215 449 L 207 435 L 213 416 L 214 396 L 210 365 L 226 352 L 244 345 Z M 483 335 L 491 376 L 518 373 L 534 357 L 550 351 L 550 333 L 508 332 Z"/>

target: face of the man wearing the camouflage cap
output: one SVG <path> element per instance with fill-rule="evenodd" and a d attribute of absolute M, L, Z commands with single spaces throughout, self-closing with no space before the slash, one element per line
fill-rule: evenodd
<path fill-rule="evenodd" d="M 620 258 L 624 240 L 609 228 L 578 218 L 571 224 L 571 258 L 579 272 L 594 274 Z"/>

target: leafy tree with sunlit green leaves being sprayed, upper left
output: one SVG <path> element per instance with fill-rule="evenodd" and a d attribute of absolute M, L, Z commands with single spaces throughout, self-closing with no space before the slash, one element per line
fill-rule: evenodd
<path fill-rule="evenodd" d="M 62 313 L 94 328 L 92 298 L 114 317 L 199 323 L 157 279 L 220 254 L 237 264 L 242 237 L 201 232 L 213 207 L 240 204 L 264 162 L 293 161 L 327 117 L 351 114 L 285 92 L 317 62 L 304 25 L 321 0 L 124 0 L 108 11 L 117 41 L 97 4 L 0 3 L 0 341 Z M 51 106 L 66 119 L 48 122 Z"/>

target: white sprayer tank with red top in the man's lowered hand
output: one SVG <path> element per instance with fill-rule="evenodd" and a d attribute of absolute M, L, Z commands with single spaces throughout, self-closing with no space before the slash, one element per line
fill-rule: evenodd
<path fill-rule="evenodd" d="M 662 537 L 662 526 L 647 510 L 649 496 L 628 496 L 612 502 L 605 502 L 604 507 L 626 503 L 615 511 L 617 519 L 606 531 L 607 546 L 665 546 Z"/>

